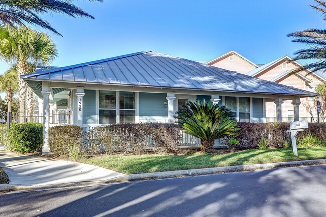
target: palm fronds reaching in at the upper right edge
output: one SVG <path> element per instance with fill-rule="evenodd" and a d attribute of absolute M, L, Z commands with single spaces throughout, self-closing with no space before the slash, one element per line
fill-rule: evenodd
<path fill-rule="evenodd" d="M 326 3 L 321 0 L 314 1 L 318 4 L 310 6 L 317 12 L 321 12 L 322 17 L 326 20 Z M 315 62 L 299 67 L 295 72 L 310 70 L 309 73 L 312 73 L 318 70 L 326 70 L 326 30 L 307 29 L 290 33 L 287 36 L 295 38 L 292 42 L 308 45 L 308 48 L 296 51 L 293 60 L 315 60 Z"/>

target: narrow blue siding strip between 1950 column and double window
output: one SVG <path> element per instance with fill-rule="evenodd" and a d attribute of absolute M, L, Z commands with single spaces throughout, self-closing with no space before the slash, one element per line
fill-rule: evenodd
<path fill-rule="evenodd" d="M 96 91 L 84 90 L 83 124 L 96 124 Z"/>

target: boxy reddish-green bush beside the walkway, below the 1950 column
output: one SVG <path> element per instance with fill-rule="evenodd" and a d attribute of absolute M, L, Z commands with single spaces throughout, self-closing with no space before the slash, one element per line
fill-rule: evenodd
<path fill-rule="evenodd" d="M 59 155 L 75 158 L 79 154 L 82 157 L 84 152 L 84 129 L 77 125 L 51 127 L 49 129 L 49 146 L 51 152 Z"/>

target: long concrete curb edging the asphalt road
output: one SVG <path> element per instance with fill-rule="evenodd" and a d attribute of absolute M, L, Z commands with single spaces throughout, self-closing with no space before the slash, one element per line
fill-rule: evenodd
<path fill-rule="evenodd" d="M 15 190 L 36 190 L 36 189 L 51 189 L 51 188 L 65 188 L 65 187 L 95 186 L 95 185 L 103 185 L 103 184 L 116 183 L 116 182 L 176 178 L 176 177 L 186 177 L 186 176 L 196 176 L 196 175 L 255 171 L 255 170 L 263 170 L 263 169 L 275 169 L 275 168 L 309 166 L 309 165 L 320 165 L 320 164 L 326 164 L 326 159 L 251 164 L 251 165 L 240 165 L 240 166 L 223 166 L 223 167 L 213 167 L 213 168 L 204 168 L 204 169 L 176 170 L 176 171 L 167 171 L 167 172 L 140 173 L 140 174 L 123 175 L 121 177 L 104 180 L 104 181 L 71 182 L 71 183 L 64 183 L 64 184 L 37 185 L 37 186 L 0 184 L 0 193 L 5 193 L 5 192 L 15 191 Z"/>

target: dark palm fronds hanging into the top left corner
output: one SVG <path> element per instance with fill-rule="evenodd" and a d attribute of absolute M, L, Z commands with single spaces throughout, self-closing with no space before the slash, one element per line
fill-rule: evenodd
<path fill-rule="evenodd" d="M 103 2 L 103 0 L 90 0 Z M 0 0 L 0 24 L 10 26 L 36 24 L 59 34 L 47 21 L 37 14 L 61 13 L 71 17 L 93 16 L 67 0 Z M 60 34 L 59 34 L 60 35 Z"/>

